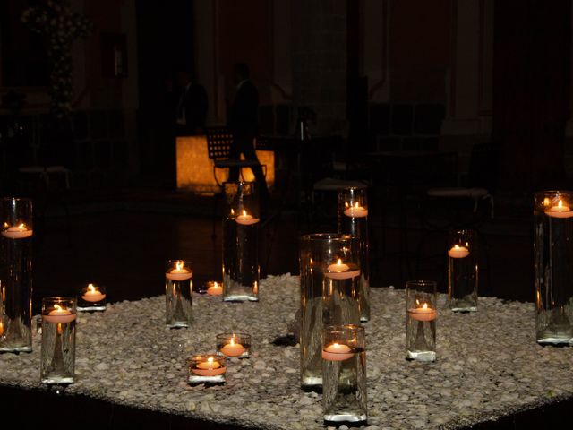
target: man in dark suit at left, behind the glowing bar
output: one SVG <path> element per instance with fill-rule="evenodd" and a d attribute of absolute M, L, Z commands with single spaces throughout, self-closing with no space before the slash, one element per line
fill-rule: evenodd
<path fill-rule="evenodd" d="M 202 134 L 207 119 L 207 91 L 192 82 L 191 73 L 177 72 L 180 89 L 175 106 L 175 132 L 178 136 Z"/>

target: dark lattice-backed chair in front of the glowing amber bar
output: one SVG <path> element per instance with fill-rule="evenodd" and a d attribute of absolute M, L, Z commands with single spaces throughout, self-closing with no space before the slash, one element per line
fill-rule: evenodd
<path fill-rule="evenodd" d="M 213 160 L 213 176 L 215 182 L 221 187 L 218 181 L 218 168 L 254 168 L 261 164 L 252 159 L 231 159 L 231 146 L 233 145 L 233 133 L 227 127 L 208 127 L 205 130 L 207 135 L 207 151 L 209 158 Z M 266 175 L 266 166 L 261 165 Z"/>

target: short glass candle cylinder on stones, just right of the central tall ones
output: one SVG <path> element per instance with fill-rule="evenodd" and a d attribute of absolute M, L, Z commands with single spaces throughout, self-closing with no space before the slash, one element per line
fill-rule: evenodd
<path fill-rule="evenodd" d="M 406 358 L 417 361 L 436 360 L 436 317 L 438 316 L 436 282 L 406 282 Z"/>

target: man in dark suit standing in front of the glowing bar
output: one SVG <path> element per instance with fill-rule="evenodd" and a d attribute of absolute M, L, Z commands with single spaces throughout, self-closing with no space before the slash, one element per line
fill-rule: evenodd
<path fill-rule="evenodd" d="M 254 151 L 254 139 L 259 133 L 259 91 L 249 80 L 249 67 L 247 64 L 235 64 L 235 99 L 229 107 L 227 125 L 233 133 L 234 141 L 231 148 L 231 158 L 245 159 L 259 162 Z M 261 164 L 252 168 L 255 181 L 259 187 L 261 198 L 269 197 L 269 190 L 262 173 Z M 229 169 L 229 181 L 238 181 L 239 168 Z"/>

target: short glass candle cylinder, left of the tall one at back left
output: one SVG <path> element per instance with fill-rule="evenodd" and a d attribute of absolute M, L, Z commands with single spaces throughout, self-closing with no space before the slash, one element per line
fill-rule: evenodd
<path fill-rule="evenodd" d="M 189 327 L 192 324 L 192 276 L 191 262 L 167 261 L 165 271 L 167 327 Z"/>

